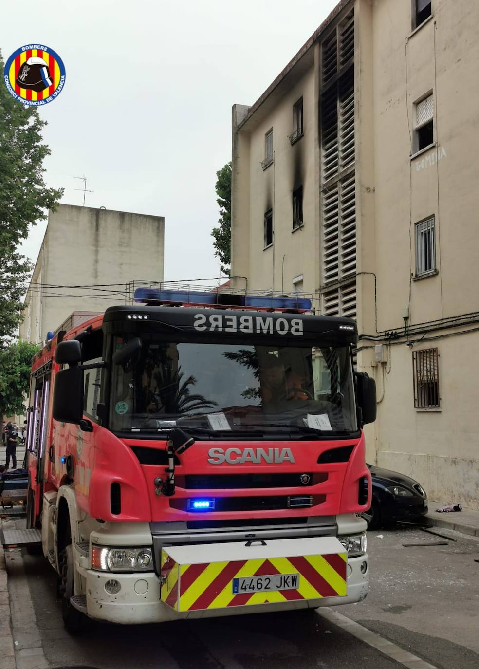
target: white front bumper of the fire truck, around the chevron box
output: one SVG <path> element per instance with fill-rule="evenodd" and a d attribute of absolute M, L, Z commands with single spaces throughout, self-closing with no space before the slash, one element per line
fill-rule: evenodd
<path fill-rule="evenodd" d="M 156 573 L 103 573 L 85 569 L 86 609 L 89 617 L 117 624 L 143 624 L 166 622 L 168 620 L 242 615 L 245 613 L 265 613 L 291 611 L 294 609 L 335 606 L 361 601 L 369 587 L 369 568 L 361 573 L 361 564 L 368 565 L 368 556 L 350 558 L 347 562 L 347 595 L 345 597 L 324 597 L 258 604 L 255 606 L 235 606 L 233 608 L 205 609 L 181 613 L 161 601 L 161 581 Z M 109 595 L 105 585 L 115 579 L 121 589 L 116 595 Z"/>

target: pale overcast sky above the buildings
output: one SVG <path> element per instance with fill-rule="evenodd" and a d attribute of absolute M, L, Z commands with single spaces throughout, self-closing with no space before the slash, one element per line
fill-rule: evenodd
<path fill-rule="evenodd" d="M 165 280 L 219 276 L 216 171 L 231 159 L 231 105 L 252 104 L 336 0 L 5 2 L 3 59 L 27 43 L 66 68 L 48 122 L 47 185 L 63 202 L 165 216 Z M 2 84 L 3 85 L 3 84 Z M 46 223 L 23 244 L 36 260 Z M 138 268 L 138 279 L 148 280 Z"/>

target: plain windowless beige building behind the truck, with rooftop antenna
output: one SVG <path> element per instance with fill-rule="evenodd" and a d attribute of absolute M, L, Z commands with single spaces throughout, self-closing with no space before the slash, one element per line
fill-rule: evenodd
<path fill-rule="evenodd" d="M 72 312 L 88 320 L 125 304 L 129 282 L 163 281 L 164 237 L 162 216 L 58 205 L 48 215 L 20 339 L 41 343 Z"/>

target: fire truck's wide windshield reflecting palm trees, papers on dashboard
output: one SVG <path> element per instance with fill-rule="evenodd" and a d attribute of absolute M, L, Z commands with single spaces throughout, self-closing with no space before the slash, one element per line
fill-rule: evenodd
<path fill-rule="evenodd" d="M 114 350 L 126 340 L 116 337 Z M 292 344 L 292 342 L 288 342 Z M 357 431 L 348 347 L 175 343 L 143 339 L 112 367 L 110 427 L 156 432 L 185 425 L 209 431 Z"/>

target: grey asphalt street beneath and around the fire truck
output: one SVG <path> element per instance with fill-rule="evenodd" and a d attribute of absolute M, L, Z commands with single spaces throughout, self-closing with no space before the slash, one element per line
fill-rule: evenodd
<path fill-rule="evenodd" d="M 336 611 L 376 632 L 377 646 L 390 640 L 438 669 L 478 669 L 479 542 L 446 533 L 457 541 L 409 548 L 403 543 L 441 540 L 418 530 L 369 533 L 370 595 Z M 7 569 L 19 669 L 426 666 L 397 662 L 314 611 L 141 627 L 89 621 L 82 636 L 72 637 L 63 627 L 56 575 L 43 557 L 11 551 Z"/>

